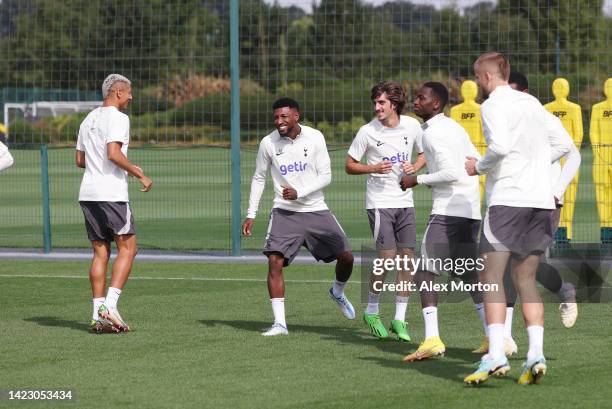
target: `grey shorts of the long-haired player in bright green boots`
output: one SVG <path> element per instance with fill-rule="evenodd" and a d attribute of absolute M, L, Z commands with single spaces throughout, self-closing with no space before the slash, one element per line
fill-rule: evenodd
<path fill-rule="evenodd" d="M 416 247 L 413 207 L 368 209 L 368 220 L 377 250 Z"/>

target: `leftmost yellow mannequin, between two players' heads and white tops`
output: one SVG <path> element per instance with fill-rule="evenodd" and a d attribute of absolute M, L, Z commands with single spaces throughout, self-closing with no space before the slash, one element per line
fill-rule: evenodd
<path fill-rule="evenodd" d="M 463 102 L 451 108 L 451 118 L 459 122 L 470 136 L 472 143 L 481 155 L 485 154 L 487 144 L 482 133 L 482 121 L 480 119 L 480 105 L 476 102 L 478 96 L 478 85 L 474 81 L 466 80 L 461 84 L 461 96 Z M 484 200 L 484 187 L 486 176 L 480 178 L 480 200 Z"/>

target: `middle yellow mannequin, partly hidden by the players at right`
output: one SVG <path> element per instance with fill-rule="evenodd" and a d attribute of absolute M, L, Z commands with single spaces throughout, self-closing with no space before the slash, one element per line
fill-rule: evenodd
<path fill-rule="evenodd" d="M 563 127 L 570 134 L 576 148 L 580 150 L 582 144 L 582 138 L 584 136 L 584 129 L 582 127 L 582 110 L 580 105 L 575 104 L 567 100 L 569 95 L 569 82 L 565 78 L 557 78 L 553 81 L 552 85 L 553 95 L 555 100 L 544 105 L 544 107 L 557 116 Z M 563 160 L 561 163 L 563 164 Z M 567 240 L 572 239 L 572 218 L 574 217 L 574 209 L 576 208 L 576 193 L 578 192 L 578 178 L 580 172 L 576 173 L 574 180 L 568 186 L 565 191 L 563 199 L 563 209 L 561 209 L 561 220 L 559 222 L 558 237 L 563 240 L 563 233 L 567 233 Z"/>

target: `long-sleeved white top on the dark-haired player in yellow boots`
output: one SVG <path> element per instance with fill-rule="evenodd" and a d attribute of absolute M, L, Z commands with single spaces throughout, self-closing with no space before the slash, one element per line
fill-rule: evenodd
<path fill-rule="evenodd" d="M 465 129 L 440 113 L 422 125 L 423 151 L 428 174 L 418 175 L 419 184 L 432 187 L 431 214 L 480 220 L 478 176 L 469 176 L 465 158 L 480 158 Z"/>

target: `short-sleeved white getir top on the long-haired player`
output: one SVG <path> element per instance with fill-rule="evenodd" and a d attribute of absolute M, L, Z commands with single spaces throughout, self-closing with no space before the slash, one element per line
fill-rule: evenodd
<path fill-rule="evenodd" d="M 366 209 L 395 209 L 414 207 L 412 189 L 403 191 L 399 185 L 403 176 L 402 162 L 412 160 L 412 148 L 418 153 L 421 148 L 423 131 L 419 121 L 401 115 L 399 124 L 388 128 L 378 119 L 362 126 L 353 140 L 348 154 L 356 161 L 365 155 L 368 165 L 389 160 L 393 169 L 390 173 L 370 173 L 366 182 Z"/>

